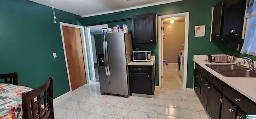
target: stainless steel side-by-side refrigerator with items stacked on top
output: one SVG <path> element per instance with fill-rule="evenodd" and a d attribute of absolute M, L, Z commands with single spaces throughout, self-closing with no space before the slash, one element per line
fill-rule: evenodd
<path fill-rule="evenodd" d="M 132 37 L 124 32 L 94 35 L 100 92 L 102 95 L 130 96 L 128 63 L 131 62 Z"/>

